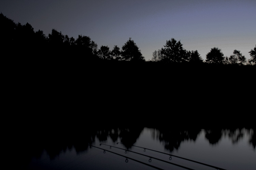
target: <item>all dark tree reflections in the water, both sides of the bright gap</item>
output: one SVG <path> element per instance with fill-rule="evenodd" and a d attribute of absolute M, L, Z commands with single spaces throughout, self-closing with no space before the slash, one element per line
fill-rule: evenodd
<path fill-rule="evenodd" d="M 93 144 L 96 138 L 102 142 L 110 138 L 113 142 L 120 140 L 128 149 L 136 143 L 144 127 L 113 127 L 113 128 L 91 128 L 86 126 L 79 129 L 48 129 L 34 133 L 33 136 L 27 135 L 24 140 L 26 152 L 29 157 L 40 157 L 43 150 L 47 152 L 50 158 L 54 158 L 60 152 L 66 152 L 67 149 L 75 148 L 76 152 L 83 152 L 88 149 L 88 144 Z M 231 128 L 231 129 L 168 129 L 154 128 L 155 133 L 153 139 L 157 139 L 164 143 L 167 150 L 178 150 L 184 141 L 196 141 L 201 131 L 205 132 L 205 138 L 211 145 L 216 145 L 219 140 L 227 136 L 233 143 L 241 140 L 247 133 L 250 136 L 248 143 L 255 149 L 255 129 Z"/>

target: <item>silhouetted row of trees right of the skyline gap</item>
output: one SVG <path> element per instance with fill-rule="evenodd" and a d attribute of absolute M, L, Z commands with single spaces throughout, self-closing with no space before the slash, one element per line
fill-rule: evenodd
<path fill-rule="evenodd" d="M 203 62 L 202 57 L 195 51 L 187 51 L 183 47 L 180 41 L 176 41 L 174 38 L 166 41 L 166 45 L 164 48 L 158 51 L 153 52 L 152 61 L 154 62 L 170 62 L 170 63 L 193 63 L 193 64 L 201 64 Z M 206 63 L 208 64 L 225 64 L 225 65 L 255 65 L 255 48 L 252 49 L 249 53 L 251 55 L 251 59 L 246 61 L 246 58 L 242 53 L 238 50 L 233 51 L 233 55 L 230 57 L 225 56 L 219 48 L 212 48 L 209 53 L 206 55 Z"/>

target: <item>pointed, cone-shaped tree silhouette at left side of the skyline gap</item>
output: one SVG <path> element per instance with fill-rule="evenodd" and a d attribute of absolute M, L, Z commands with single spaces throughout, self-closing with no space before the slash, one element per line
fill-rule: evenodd
<path fill-rule="evenodd" d="M 122 50 L 122 56 L 126 61 L 145 61 L 139 47 L 131 38 L 123 45 Z"/>

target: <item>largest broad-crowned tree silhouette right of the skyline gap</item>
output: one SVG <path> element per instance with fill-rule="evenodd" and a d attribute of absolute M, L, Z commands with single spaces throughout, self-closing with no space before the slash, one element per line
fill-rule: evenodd
<path fill-rule="evenodd" d="M 182 47 L 181 41 L 176 41 L 174 38 L 166 41 L 166 45 L 164 45 L 161 49 L 161 54 L 163 54 L 163 58 L 161 61 L 165 62 L 174 62 L 180 63 L 187 61 L 186 50 Z"/>

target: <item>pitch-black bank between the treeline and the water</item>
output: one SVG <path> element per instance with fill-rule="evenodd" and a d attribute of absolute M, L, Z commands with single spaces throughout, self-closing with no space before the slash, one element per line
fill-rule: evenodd
<path fill-rule="evenodd" d="M 121 125 L 163 125 L 156 122 L 168 124 L 171 119 L 177 126 L 198 126 L 203 120 L 208 126 L 240 127 L 254 125 L 255 68 L 205 63 L 21 62 L 7 68 L 5 77 L 10 80 L 6 83 L 11 110 L 32 114 L 35 124 L 40 119 L 96 119 L 104 125 L 117 118 Z"/>

